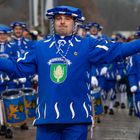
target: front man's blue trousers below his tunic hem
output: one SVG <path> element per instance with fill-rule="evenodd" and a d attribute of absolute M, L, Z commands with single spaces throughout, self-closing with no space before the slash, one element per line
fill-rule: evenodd
<path fill-rule="evenodd" d="M 87 140 L 87 124 L 49 124 L 37 126 L 36 140 Z"/>

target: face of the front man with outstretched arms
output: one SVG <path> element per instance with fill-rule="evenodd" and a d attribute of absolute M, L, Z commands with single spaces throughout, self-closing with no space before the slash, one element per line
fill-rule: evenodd
<path fill-rule="evenodd" d="M 74 19 L 68 15 L 56 15 L 54 26 L 56 33 L 60 36 L 70 35 L 73 31 Z"/>

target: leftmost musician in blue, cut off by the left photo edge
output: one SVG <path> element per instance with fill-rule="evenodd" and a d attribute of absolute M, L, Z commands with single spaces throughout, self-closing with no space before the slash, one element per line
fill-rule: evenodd
<path fill-rule="evenodd" d="M 9 42 L 9 34 L 11 33 L 11 29 L 3 24 L 0 24 L 0 57 L 2 58 L 17 58 L 17 49 L 16 45 L 13 42 Z M 12 80 L 9 79 L 9 76 L 3 72 L 0 71 L 0 96 L 3 91 L 5 91 L 9 84 L 12 84 L 16 86 L 16 83 L 14 83 Z M 12 137 L 12 131 L 10 128 L 7 128 L 4 124 L 4 118 L 3 118 L 3 111 L 2 111 L 2 102 L 0 103 L 0 122 L 1 122 L 1 128 L 0 128 L 0 135 L 6 135 L 6 137 L 11 138 Z"/>

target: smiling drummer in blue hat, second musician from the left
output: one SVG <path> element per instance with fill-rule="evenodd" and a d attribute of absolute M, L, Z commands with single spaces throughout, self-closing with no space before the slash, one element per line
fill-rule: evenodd
<path fill-rule="evenodd" d="M 15 42 L 15 44 L 17 45 L 18 57 L 23 57 L 24 54 L 28 50 L 30 50 L 31 46 L 33 45 L 33 41 L 23 36 L 24 31 L 27 30 L 27 25 L 26 23 L 21 21 L 14 21 L 10 24 L 10 27 L 13 30 L 12 41 Z M 17 79 L 19 83 L 18 88 L 32 87 L 31 79 L 32 75 Z M 26 123 L 23 123 L 20 128 L 22 130 L 27 130 L 28 126 Z"/>

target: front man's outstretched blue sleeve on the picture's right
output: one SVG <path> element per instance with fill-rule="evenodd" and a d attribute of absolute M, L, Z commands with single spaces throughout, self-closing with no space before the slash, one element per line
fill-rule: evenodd
<path fill-rule="evenodd" d="M 94 45 L 93 45 L 94 44 Z M 128 43 L 122 42 L 101 42 L 90 40 L 89 60 L 94 63 L 111 63 L 122 61 L 127 56 L 131 56 L 140 51 L 140 40 Z"/>

